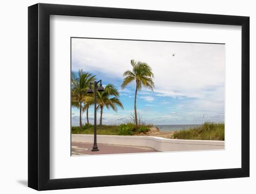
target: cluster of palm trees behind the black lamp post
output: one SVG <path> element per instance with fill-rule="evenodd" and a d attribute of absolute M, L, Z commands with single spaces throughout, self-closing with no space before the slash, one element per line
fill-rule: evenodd
<path fill-rule="evenodd" d="M 95 75 L 79 70 L 78 75 L 72 72 L 71 75 L 71 105 L 80 110 L 79 126 L 82 128 L 82 114 L 86 111 L 87 123 L 89 124 L 88 109 L 94 105 L 94 94 L 88 94 L 87 90 L 90 83 L 95 81 Z M 119 100 L 119 92 L 112 84 L 108 84 L 103 92 L 97 91 L 97 109 L 101 111 L 100 126 L 102 125 L 103 108 L 113 109 L 117 111 L 117 107 L 121 107 Z"/>

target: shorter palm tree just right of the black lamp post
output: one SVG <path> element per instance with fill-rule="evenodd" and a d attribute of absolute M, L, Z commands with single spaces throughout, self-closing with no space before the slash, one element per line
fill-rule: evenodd
<path fill-rule="evenodd" d="M 114 85 L 108 84 L 103 92 L 97 91 L 97 109 L 101 109 L 100 126 L 102 126 L 103 108 L 107 107 L 117 112 L 117 107 L 123 109 L 123 105 L 119 100 L 119 92 Z M 94 104 L 94 97 L 88 97 L 88 104 Z"/>

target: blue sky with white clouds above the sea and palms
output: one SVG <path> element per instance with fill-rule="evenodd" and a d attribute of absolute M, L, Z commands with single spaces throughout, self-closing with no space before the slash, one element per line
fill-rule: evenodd
<path fill-rule="evenodd" d="M 72 38 L 72 71 L 83 69 L 102 84 L 113 84 L 124 109 L 103 110 L 103 124 L 127 121 L 134 114 L 135 83 L 121 89 L 130 60 L 146 62 L 155 75 L 154 91 L 142 88 L 137 112 L 154 125 L 224 122 L 225 45 L 161 41 Z M 175 56 L 172 54 L 175 53 Z M 97 114 L 98 120 L 100 114 Z M 86 113 L 82 116 L 86 122 Z M 94 122 L 94 109 L 89 109 Z M 72 125 L 79 124 L 79 110 L 72 108 Z"/>

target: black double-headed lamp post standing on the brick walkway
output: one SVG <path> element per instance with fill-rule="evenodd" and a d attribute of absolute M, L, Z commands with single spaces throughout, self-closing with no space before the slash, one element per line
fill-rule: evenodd
<path fill-rule="evenodd" d="M 100 86 L 97 88 L 97 84 L 100 82 Z M 104 91 L 104 87 L 102 86 L 101 80 L 99 81 L 94 81 L 94 90 L 92 89 L 92 83 L 90 83 L 90 88 L 87 90 L 89 94 L 94 93 L 94 146 L 92 151 L 99 151 L 98 146 L 97 146 L 97 90 L 99 92 Z"/>

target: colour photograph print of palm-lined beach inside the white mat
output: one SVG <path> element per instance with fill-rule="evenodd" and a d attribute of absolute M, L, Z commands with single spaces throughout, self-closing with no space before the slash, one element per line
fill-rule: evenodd
<path fill-rule="evenodd" d="M 224 149 L 225 44 L 71 38 L 71 155 Z"/>

